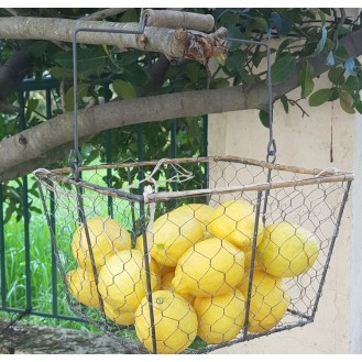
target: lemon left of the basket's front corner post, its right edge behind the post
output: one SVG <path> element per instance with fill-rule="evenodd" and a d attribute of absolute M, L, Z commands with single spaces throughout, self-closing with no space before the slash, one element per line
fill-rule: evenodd
<path fill-rule="evenodd" d="M 157 265 L 150 263 L 151 287 L 160 287 Z M 107 259 L 99 273 L 98 288 L 113 308 L 134 311 L 146 295 L 145 261 L 139 250 L 122 250 Z"/>

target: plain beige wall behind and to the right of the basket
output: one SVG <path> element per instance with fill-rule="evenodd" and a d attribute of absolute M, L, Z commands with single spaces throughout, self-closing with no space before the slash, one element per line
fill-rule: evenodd
<path fill-rule="evenodd" d="M 317 87 L 322 87 L 326 83 L 328 84 L 328 79 L 319 79 Z M 288 97 L 298 99 L 299 89 Z M 309 117 L 301 118 L 297 107 L 286 114 L 281 103 L 275 103 L 276 162 L 306 168 L 323 169 L 333 166 L 354 172 L 359 177 L 362 169 L 361 116 L 344 113 L 338 101 L 318 108 L 309 108 L 306 103 L 301 106 Z M 330 161 L 331 140 L 333 162 Z M 231 154 L 264 161 L 267 142 L 268 130 L 259 121 L 257 111 L 209 116 L 209 155 Z M 361 267 L 356 257 L 362 256 L 361 240 L 358 240 L 361 234 L 359 220 L 362 196 L 358 183 L 359 179 L 353 183 L 353 195 L 345 207 L 315 321 L 213 353 L 362 352 L 362 286 Z"/>

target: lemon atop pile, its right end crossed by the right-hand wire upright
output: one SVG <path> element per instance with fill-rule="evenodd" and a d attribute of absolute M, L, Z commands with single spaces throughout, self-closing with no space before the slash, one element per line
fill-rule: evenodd
<path fill-rule="evenodd" d="M 227 239 L 237 248 L 252 246 L 255 227 L 253 205 L 244 200 L 229 200 L 212 213 L 208 230 L 219 239 Z M 263 222 L 259 219 L 256 245 L 263 238 Z"/>

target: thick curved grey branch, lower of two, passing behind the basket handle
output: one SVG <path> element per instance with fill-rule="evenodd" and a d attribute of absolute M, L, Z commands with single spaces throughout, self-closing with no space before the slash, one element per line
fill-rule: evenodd
<path fill-rule="evenodd" d="M 350 55 L 362 54 L 362 30 L 345 36 L 340 43 Z M 309 61 L 312 62 L 315 77 L 328 70 L 326 53 Z M 303 62 L 297 68 L 301 66 Z M 297 87 L 298 73 L 295 73 L 283 84 L 273 87 L 273 100 Z M 81 142 L 103 130 L 127 124 L 245 109 L 267 110 L 267 97 L 265 84 L 259 84 L 250 88 L 231 87 L 114 101 L 79 111 L 79 138 Z M 58 116 L 2 140 L 0 182 L 28 174 L 61 158 L 73 149 L 72 141 L 73 113 Z"/>

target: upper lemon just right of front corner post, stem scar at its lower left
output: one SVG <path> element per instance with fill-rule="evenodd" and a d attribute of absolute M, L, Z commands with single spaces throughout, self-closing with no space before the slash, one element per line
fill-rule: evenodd
<path fill-rule="evenodd" d="M 156 219 L 152 227 L 150 254 L 160 264 L 175 266 L 178 259 L 204 235 L 204 227 L 185 211 L 174 210 Z"/>

